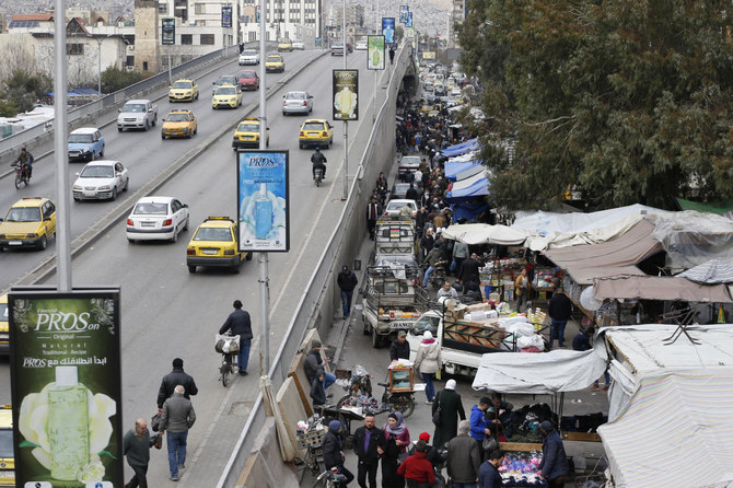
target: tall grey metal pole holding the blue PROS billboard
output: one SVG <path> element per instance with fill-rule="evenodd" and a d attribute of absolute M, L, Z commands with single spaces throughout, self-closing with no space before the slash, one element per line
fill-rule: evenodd
<path fill-rule="evenodd" d="M 259 79 L 266 80 L 265 72 L 265 22 L 267 21 L 267 0 L 259 0 Z M 259 88 L 259 149 L 267 149 L 267 83 Z M 260 376 L 269 374 L 270 371 L 270 278 L 269 278 L 269 254 L 259 253 L 257 257 L 259 282 L 259 350 L 260 350 Z"/>

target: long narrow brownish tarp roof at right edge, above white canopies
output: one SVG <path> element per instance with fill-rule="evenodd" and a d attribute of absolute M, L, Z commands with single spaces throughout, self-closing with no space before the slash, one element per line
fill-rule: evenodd
<path fill-rule="evenodd" d="M 698 284 L 672 276 L 613 276 L 593 280 L 597 300 L 684 300 L 701 303 L 729 303 L 724 284 Z"/>

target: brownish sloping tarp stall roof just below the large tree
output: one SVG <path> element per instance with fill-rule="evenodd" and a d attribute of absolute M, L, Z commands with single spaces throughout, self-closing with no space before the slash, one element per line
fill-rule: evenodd
<path fill-rule="evenodd" d="M 662 251 L 651 234 L 654 225 L 645 220 L 613 241 L 545 251 L 557 266 L 565 268 L 580 284 L 592 284 L 593 278 L 614 275 L 637 275 L 635 265 Z"/>

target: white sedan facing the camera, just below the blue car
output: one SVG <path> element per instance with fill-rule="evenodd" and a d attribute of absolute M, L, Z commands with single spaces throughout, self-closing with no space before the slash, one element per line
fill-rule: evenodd
<path fill-rule="evenodd" d="M 73 199 L 114 200 L 119 191 L 127 191 L 130 176 L 119 161 L 93 161 L 77 173 L 73 182 Z"/>

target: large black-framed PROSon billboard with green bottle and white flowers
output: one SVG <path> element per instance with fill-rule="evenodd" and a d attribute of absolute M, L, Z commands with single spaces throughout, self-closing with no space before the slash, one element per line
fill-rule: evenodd
<path fill-rule="evenodd" d="M 11 290 L 15 486 L 123 486 L 119 289 Z"/>

